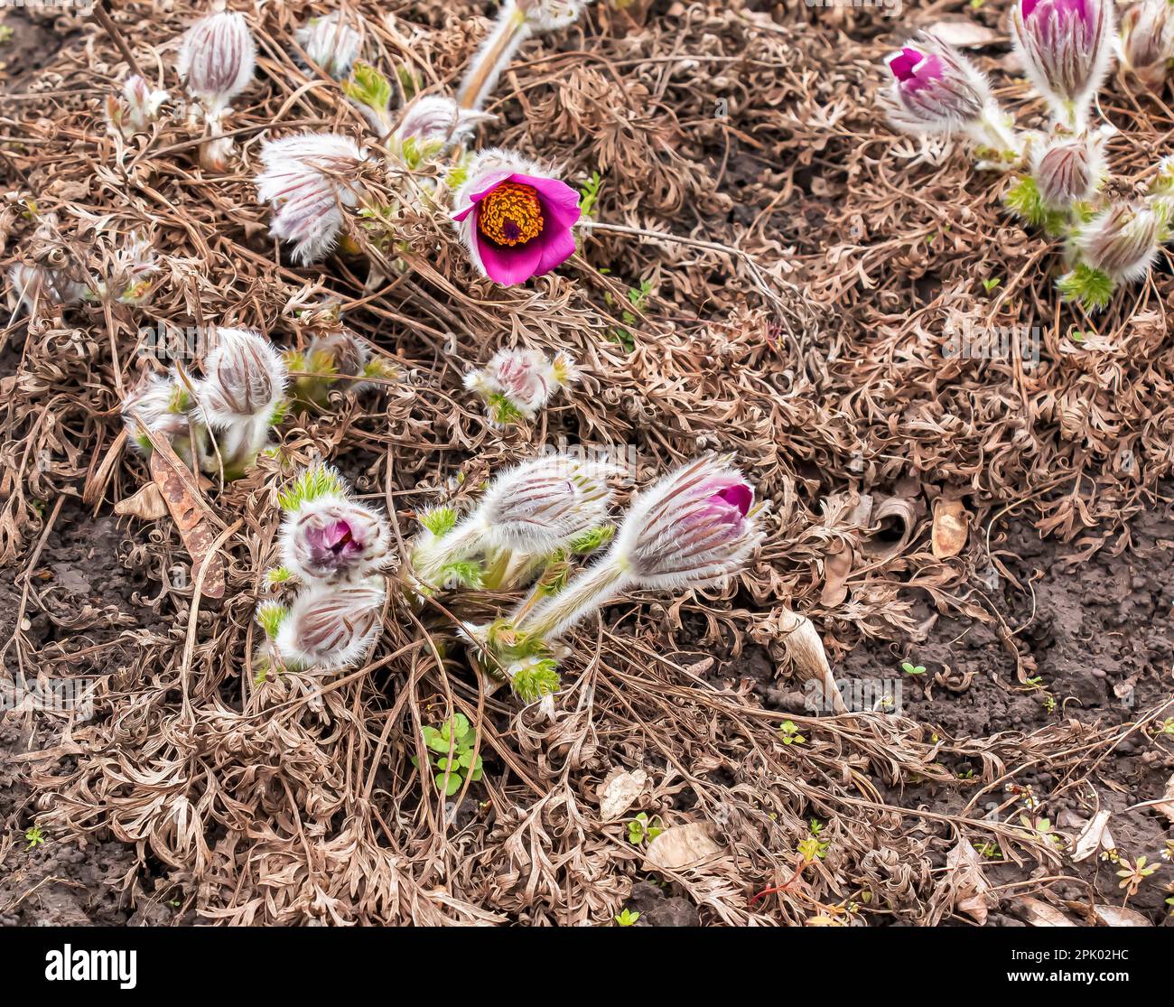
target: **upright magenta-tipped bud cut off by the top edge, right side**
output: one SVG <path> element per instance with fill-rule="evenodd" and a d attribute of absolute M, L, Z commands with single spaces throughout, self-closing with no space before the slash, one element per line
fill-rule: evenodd
<path fill-rule="evenodd" d="M 1018 0 L 1011 35 L 1057 120 L 1082 129 L 1113 58 L 1113 0 Z"/>

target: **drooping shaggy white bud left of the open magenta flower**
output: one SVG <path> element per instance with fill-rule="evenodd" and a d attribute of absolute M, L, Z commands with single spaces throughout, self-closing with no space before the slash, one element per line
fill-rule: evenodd
<path fill-rule="evenodd" d="M 366 160 L 353 140 L 304 134 L 261 148 L 257 201 L 271 203 L 270 234 L 294 242 L 294 257 L 310 263 L 330 251 L 343 227 L 343 207 L 359 201 L 356 173 Z"/>

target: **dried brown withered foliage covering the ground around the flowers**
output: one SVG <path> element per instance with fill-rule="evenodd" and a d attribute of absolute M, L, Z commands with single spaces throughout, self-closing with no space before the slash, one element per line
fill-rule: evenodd
<path fill-rule="evenodd" d="M 200 5 L 119 6 L 139 68 L 178 97 L 177 39 Z M 351 6 L 364 59 L 399 104 L 417 88 L 453 88 L 488 27 L 464 0 L 394 15 Z M 599 788 L 641 766 L 650 782 L 632 811 L 702 823 L 720 849 L 656 872 L 706 922 L 940 918 L 954 893 L 937 869 L 959 839 L 1054 866 L 1051 844 L 983 819 L 976 802 L 950 816 L 896 806 L 882 790 L 949 788 L 944 765 L 963 758 L 991 789 L 1044 752 L 1075 771 L 1107 734 L 1058 724 L 956 741 L 855 714 L 795 717 L 807 741 L 784 745 L 780 714 L 737 681 L 737 658 L 749 638 L 780 675 L 802 674 L 791 610 L 814 621 L 832 660 L 862 636 L 913 630 L 912 601 L 926 594 L 989 619 L 970 586 L 983 536 L 958 556 L 931 552 L 944 495 L 965 496 L 972 529 L 1020 507 L 1045 532 L 1099 546 L 1169 473 L 1168 278 L 1072 343 L 1041 279 L 1048 245 L 1010 224 L 984 187 L 967 188 L 963 155 L 878 126 L 870 95 L 885 46 L 839 34 L 857 13 L 815 12 L 816 33 L 798 5 L 774 19 L 717 0 L 653 6 L 595 5 L 527 43 L 488 104 L 501 122 L 486 142 L 576 185 L 603 180 L 580 252 L 524 289 L 478 279 L 443 215 L 396 173 L 369 180 L 399 207 L 390 223 L 349 217 L 363 255 L 296 269 L 268 237 L 251 183 L 263 138 L 337 130 L 375 144 L 337 83 L 295 59 L 294 33 L 325 13 L 319 2 L 248 7 L 258 74 L 228 120 L 237 151 L 225 176 L 198 167 L 200 137 L 181 120 L 130 142 L 106 129 L 102 102 L 129 70 L 93 22 L 62 16 L 73 41 L 6 101 L 5 265 L 108 277 L 131 235 L 158 256 L 144 305 L 42 299 L 14 317 L 0 387 L 0 561 L 26 588 L 6 668 L 35 678 L 69 667 L 99 682 L 93 721 L 52 719 L 22 764 L 55 837 L 108 832 L 153 858 L 157 892 L 137 898 L 180 892 L 183 912 L 227 924 L 605 924 L 649 869 L 622 820 L 601 820 Z M 1118 111 L 1151 136 L 1165 128 L 1153 109 Z M 984 276 L 1001 278 L 991 298 Z M 641 284 L 648 296 L 629 297 Z M 33 647 L 20 621 L 42 603 L 27 586 L 60 501 L 108 513 L 149 479 L 119 403 L 160 369 L 151 333 L 251 326 L 304 347 L 329 325 L 328 298 L 402 380 L 337 394 L 324 414 L 291 411 L 279 457 L 203 487 L 223 602 L 197 592 L 195 574 L 169 576 L 188 556 L 168 518 L 126 519 L 124 562 L 157 586 L 137 599 L 141 624 L 95 646 Z M 944 322 L 971 311 L 1040 325 L 1040 366 L 943 360 Z M 581 379 L 533 425 L 498 431 L 461 378 L 514 343 L 569 352 Z M 362 669 L 256 680 L 252 614 L 275 555 L 276 491 L 294 466 L 337 464 L 403 541 L 416 509 L 472 499 L 488 472 L 564 438 L 630 447 L 637 482 L 699 451 L 735 452 L 772 502 L 753 568 L 728 589 L 633 599 L 586 626 L 553 723 L 478 678 L 444 597 L 418 610 L 392 594 Z M 699 649 L 733 656 L 730 677 L 708 674 Z M 477 728 L 486 771 L 445 802 L 412 757 L 426 764 L 421 728 L 452 712 Z M 811 818 L 830 845 L 803 866 Z"/>

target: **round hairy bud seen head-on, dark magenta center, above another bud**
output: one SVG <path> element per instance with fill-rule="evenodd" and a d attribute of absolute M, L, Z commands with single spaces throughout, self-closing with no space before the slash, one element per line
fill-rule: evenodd
<path fill-rule="evenodd" d="M 391 533 L 370 507 L 329 494 L 286 514 L 282 563 L 303 581 L 364 577 L 387 555 Z"/>

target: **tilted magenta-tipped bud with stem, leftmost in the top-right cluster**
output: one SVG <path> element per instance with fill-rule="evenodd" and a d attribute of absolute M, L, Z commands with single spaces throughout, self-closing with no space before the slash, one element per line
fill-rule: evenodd
<path fill-rule="evenodd" d="M 898 129 L 913 134 L 964 131 L 999 153 L 1018 148 L 986 77 L 952 46 L 922 32 L 886 62 L 892 82 L 883 101 Z"/>

